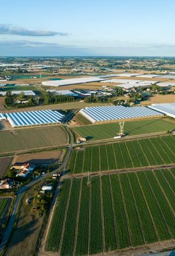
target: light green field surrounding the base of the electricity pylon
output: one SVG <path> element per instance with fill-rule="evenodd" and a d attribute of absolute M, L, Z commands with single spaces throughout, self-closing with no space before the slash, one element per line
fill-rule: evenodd
<path fill-rule="evenodd" d="M 169 119 L 146 119 L 142 121 L 125 122 L 124 133 L 127 135 L 159 133 L 175 129 L 175 122 Z M 88 141 L 113 138 L 119 133 L 119 123 L 104 123 L 102 125 L 86 125 L 72 129 L 79 137 Z"/>

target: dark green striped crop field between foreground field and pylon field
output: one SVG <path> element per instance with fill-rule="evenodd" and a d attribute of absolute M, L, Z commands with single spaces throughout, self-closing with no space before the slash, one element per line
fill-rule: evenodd
<path fill-rule="evenodd" d="M 72 151 L 72 174 L 175 163 L 175 136 L 86 146 Z"/>

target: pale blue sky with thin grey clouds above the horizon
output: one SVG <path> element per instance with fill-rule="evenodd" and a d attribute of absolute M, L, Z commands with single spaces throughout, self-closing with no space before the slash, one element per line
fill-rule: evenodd
<path fill-rule="evenodd" d="M 0 56 L 175 56 L 174 0 L 1 1 Z"/>

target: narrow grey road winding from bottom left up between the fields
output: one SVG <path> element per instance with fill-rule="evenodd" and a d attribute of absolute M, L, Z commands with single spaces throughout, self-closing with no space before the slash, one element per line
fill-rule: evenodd
<path fill-rule="evenodd" d="M 72 144 L 74 143 L 74 136 L 72 135 L 69 127 L 67 126 L 67 123 L 65 124 L 65 127 L 66 127 L 66 130 L 67 130 L 67 133 L 70 136 L 70 145 L 68 147 L 67 154 L 65 156 L 65 159 L 64 159 L 63 163 L 56 170 L 53 171 L 54 173 L 55 172 L 62 172 L 62 175 L 65 175 L 67 162 L 69 161 L 69 157 L 70 157 L 71 150 L 72 150 Z M 10 221 L 8 223 L 6 232 L 5 232 L 5 234 L 2 238 L 2 242 L 1 242 L 1 245 L 0 245 L 0 254 L 2 253 L 3 249 L 5 249 L 5 246 L 8 242 L 8 239 L 10 238 L 10 234 L 11 234 L 12 229 L 14 227 L 16 214 L 18 213 L 18 208 L 19 208 L 20 200 L 22 199 L 23 193 L 25 191 L 27 191 L 29 188 L 31 188 L 33 185 L 38 183 L 39 181 L 44 180 L 44 179 L 52 176 L 53 172 L 49 172 L 49 173 L 46 173 L 44 175 L 41 175 L 41 176 L 37 177 L 37 179 L 35 179 L 35 180 L 31 181 L 30 183 L 28 183 L 27 185 L 25 185 L 24 187 L 21 187 L 21 188 L 18 189 L 15 204 L 14 204 L 14 208 L 12 210 L 12 214 L 11 214 L 11 217 L 10 217 Z"/>

